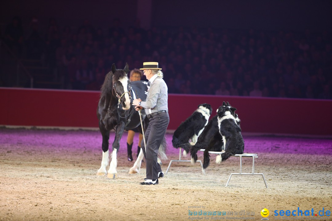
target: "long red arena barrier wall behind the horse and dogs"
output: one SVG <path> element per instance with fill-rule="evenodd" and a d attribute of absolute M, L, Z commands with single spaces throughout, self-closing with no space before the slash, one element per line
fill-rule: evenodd
<path fill-rule="evenodd" d="M 0 87 L 0 125 L 98 127 L 99 91 Z M 170 123 L 175 130 L 198 104 L 216 114 L 222 101 L 237 108 L 246 133 L 331 136 L 332 100 L 169 94 Z"/>

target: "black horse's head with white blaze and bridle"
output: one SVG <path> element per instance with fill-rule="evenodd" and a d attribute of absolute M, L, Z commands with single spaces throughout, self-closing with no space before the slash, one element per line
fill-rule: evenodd
<path fill-rule="evenodd" d="M 130 85 L 127 73 L 129 72 L 128 64 L 125 65 L 124 70 L 116 69 L 115 64 L 112 65 L 113 81 L 112 90 L 115 94 L 119 103 L 122 104 L 124 110 L 130 108 Z"/>

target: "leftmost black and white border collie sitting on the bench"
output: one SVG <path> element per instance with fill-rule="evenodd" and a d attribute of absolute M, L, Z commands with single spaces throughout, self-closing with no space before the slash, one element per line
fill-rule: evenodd
<path fill-rule="evenodd" d="M 207 125 L 211 113 L 211 105 L 200 104 L 197 110 L 174 131 L 172 144 L 175 148 L 183 148 L 184 156 L 189 153 L 191 146 L 197 142 L 197 138 Z"/>

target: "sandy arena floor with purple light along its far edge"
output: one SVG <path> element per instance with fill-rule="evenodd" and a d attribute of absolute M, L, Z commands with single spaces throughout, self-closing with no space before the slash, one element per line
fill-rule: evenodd
<path fill-rule="evenodd" d="M 215 156 L 206 175 L 198 163 L 174 162 L 159 185 L 141 186 L 145 163 L 139 174 L 128 174 L 133 162 L 127 161 L 126 135 L 118 176 L 108 179 L 96 175 L 102 159 L 97 131 L 0 129 L 0 220 L 261 220 L 263 208 L 275 220 L 285 216 L 275 217 L 274 210 L 313 208 L 318 215 L 323 207 L 332 209 L 331 139 L 244 136 L 245 152 L 259 154 L 255 172 L 264 173 L 266 189 L 260 176 L 233 176 L 225 188 L 229 174 L 238 172 L 239 158 L 216 165 Z M 179 155 L 171 137 L 167 134 L 169 160 Z M 251 165 L 252 158 L 244 158 L 242 172 L 250 173 Z M 226 215 L 189 215 L 200 210 Z"/>

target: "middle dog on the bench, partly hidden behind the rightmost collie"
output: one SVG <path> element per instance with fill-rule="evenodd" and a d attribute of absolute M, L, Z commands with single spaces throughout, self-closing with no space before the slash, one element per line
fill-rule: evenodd
<path fill-rule="evenodd" d="M 236 116 L 237 122 L 240 124 L 240 119 L 237 117 L 237 114 L 235 114 L 236 108 L 232 107 L 228 102 L 225 103 L 225 101 L 222 102 L 222 106 L 228 106 L 232 111 L 232 115 Z M 212 137 L 214 137 L 214 139 L 210 142 Z M 204 162 L 207 163 L 206 167 L 210 161 L 208 151 L 222 151 L 222 149 L 224 149 L 222 137 L 219 132 L 217 115 L 212 117 L 207 123 L 207 126 L 204 128 L 201 136 L 198 137 L 197 143 L 190 149 L 192 164 L 197 161 L 197 151 L 199 149 L 207 150 L 204 152 Z"/>

